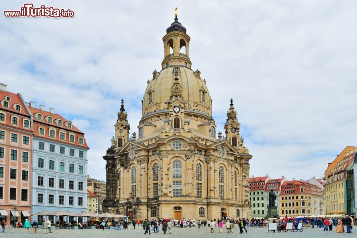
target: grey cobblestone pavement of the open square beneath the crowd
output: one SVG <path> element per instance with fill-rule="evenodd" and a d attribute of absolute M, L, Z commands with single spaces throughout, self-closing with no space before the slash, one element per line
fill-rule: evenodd
<path fill-rule="evenodd" d="M 159 228 L 161 229 L 161 227 Z M 132 226 L 127 230 L 116 231 L 111 230 L 54 230 L 51 234 L 44 234 L 43 229 L 39 229 L 37 234 L 33 234 L 33 230 L 30 229 L 30 233 L 26 234 L 25 229 L 13 229 L 6 227 L 5 233 L 0 234 L 0 238 L 147 238 L 147 237 L 157 237 L 157 238 L 345 238 L 345 237 L 356 237 L 354 233 L 336 233 L 336 227 L 333 231 L 324 232 L 323 228 L 308 228 L 304 229 L 303 232 L 282 232 L 273 233 L 267 228 L 263 227 L 249 227 L 247 228 L 248 233 L 239 234 L 239 229 L 234 228 L 233 234 L 227 234 L 225 229 L 223 233 L 218 233 L 218 228 L 215 228 L 215 233 L 211 233 L 208 227 L 206 228 L 173 228 L 173 233 L 170 235 L 164 234 L 161 230 L 159 233 L 151 232 L 151 235 L 144 235 L 144 230 L 142 227 L 136 227 L 134 230 Z M 346 227 L 345 227 L 346 230 Z"/>

